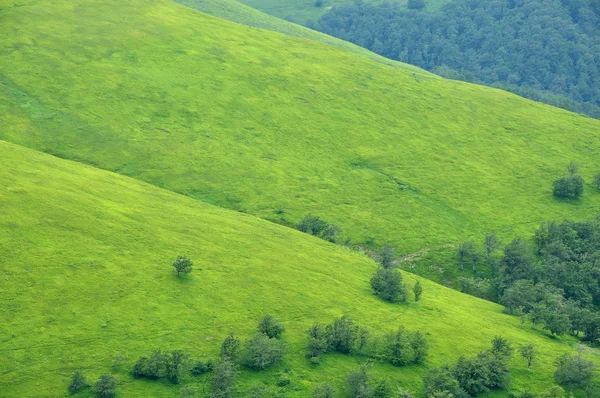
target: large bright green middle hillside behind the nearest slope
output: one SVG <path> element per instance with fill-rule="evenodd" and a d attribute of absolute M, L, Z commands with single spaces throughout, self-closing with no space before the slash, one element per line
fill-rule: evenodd
<path fill-rule="evenodd" d="M 402 252 L 594 214 L 600 121 L 169 1 L 8 1 L 0 138 Z"/>

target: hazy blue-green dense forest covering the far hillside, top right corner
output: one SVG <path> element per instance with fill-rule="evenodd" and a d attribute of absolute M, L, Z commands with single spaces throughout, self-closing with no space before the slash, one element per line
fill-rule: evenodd
<path fill-rule="evenodd" d="M 447 78 L 600 117 L 600 0 L 456 0 L 435 13 L 357 1 L 316 28 Z"/>

